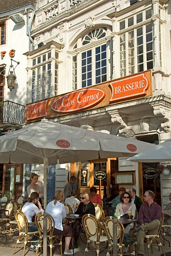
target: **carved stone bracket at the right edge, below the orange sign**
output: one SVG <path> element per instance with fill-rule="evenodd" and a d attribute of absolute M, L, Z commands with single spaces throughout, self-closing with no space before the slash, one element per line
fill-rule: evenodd
<path fill-rule="evenodd" d="M 165 132 L 171 131 L 171 118 L 170 118 L 170 107 L 171 104 L 167 102 L 152 102 L 153 113 L 161 121 L 161 127 Z"/>

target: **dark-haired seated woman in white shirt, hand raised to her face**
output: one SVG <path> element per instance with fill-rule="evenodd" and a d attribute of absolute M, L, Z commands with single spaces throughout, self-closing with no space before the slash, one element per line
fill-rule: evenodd
<path fill-rule="evenodd" d="M 38 207 L 35 205 L 37 204 Z M 25 213 L 28 222 L 29 222 L 29 228 L 28 231 L 29 232 L 34 232 L 37 231 L 37 226 L 36 225 L 32 225 L 32 217 L 37 214 L 38 212 L 43 212 L 42 209 L 42 205 L 39 202 L 39 194 L 37 192 L 32 192 L 30 197 L 28 197 L 28 202 L 22 206 L 22 210 L 23 213 Z M 33 241 L 38 241 L 38 237 L 37 236 L 33 236 L 32 237 Z M 37 245 L 38 242 L 32 242 L 31 246 L 30 246 L 30 251 L 34 251 L 36 252 L 37 249 Z"/>

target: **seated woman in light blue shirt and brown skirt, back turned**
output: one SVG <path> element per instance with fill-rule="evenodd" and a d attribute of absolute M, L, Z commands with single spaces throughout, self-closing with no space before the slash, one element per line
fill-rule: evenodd
<path fill-rule="evenodd" d="M 54 200 L 47 204 L 46 212 L 51 214 L 55 221 L 53 235 L 64 235 L 66 237 L 64 254 L 72 255 L 73 252 L 69 250 L 69 244 L 72 236 L 72 228 L 70 226 L 62 225 L 62 219 L 66 218 L 66 208 L 64 207 L 63 201 L 63 191 L 57 190 L 54 196 Z"/>

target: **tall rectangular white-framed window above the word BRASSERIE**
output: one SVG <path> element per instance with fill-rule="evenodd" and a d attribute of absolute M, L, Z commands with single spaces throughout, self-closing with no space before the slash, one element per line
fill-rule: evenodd
<path fill-rule="evenodd" d="M 151 9 L 148 9 L 120 21 L 121 77 L 153 68 L 151 15 Z M 122 33 L 125 29 L 126 32 Z"/>

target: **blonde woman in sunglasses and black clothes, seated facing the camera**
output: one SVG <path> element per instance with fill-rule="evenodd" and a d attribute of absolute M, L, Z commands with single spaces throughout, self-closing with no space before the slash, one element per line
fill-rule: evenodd
<path fill-rule="evenodd" d="M 91 201 L 89 201 L 88 193 L 86 192 L 82 193 L 80 196 L 80 199 L 81 199 L 81 202 L 78 205 L 78 209 L 75 213 L 79 214 L 80 217 L 83 217 L 87 213 L 93 214 L 95 216 L 94 204 Z M 76 220 L 73 226 L 74 237 L 75 237 L 74 248 L 78 248 L 77 241 L 79 237 L 79 230 L 80 230 L 80 221 Z"/>

